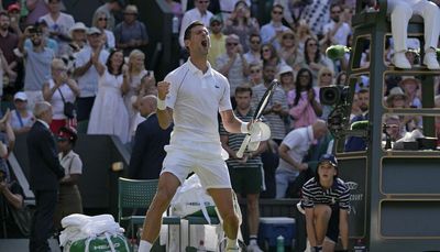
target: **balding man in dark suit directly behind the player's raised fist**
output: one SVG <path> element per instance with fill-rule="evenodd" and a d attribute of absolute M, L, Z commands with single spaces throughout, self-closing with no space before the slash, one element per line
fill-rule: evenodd
<path fill-rule="evenodd" d="M 135 179 L 157 179 L 165 158 L 164 146 L 169 143 L 173 127 L 162 130 L 155 113 L 157 98 L 145 96 L 140 100 L 139 111 L 145 121 L 140 123 L 134 136 L 129 177 Z"/>

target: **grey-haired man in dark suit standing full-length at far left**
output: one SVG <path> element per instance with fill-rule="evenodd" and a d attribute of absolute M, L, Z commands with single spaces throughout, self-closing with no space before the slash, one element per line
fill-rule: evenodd
<path fill-rule="evenodd" d="M 51 251 L 47 239 L 53 231 L 53 218 L 58 195 L 58 180 L 64 177 L 48 124 L 52 106 L 46 101 L 35 103 L 36 122 L 28 134 L 28 155 L 31 168 L 31 189 L 35 195 L 36 210 L 32 219 L 29 249 L 31 252 Z"/>

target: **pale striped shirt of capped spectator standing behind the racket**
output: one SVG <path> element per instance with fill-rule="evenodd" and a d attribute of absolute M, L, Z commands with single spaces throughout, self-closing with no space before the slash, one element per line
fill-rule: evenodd
<path fill-rule="evenodd" d="M 264 84 L 260 84 L 255 87 L 252 88 L 252 108 L 256 108 L 258 106 L 260 100 L 264 96 L 264 92 L 267 90 L 267 88 L 264 86 Z M 283 110 L 287 111 L 287 100 L 286 100 L 286 94 L 284 92 L 283 89 L 277 87 L 275 89 L 274 96 L 272 99 L 268 101 L 267 109 L 271 109 L 275 103 L 282 105 Z M 271 127 L 271 132 L 272 132 L 272 139 L 275 140 L 283 140 L 284 136 L 286 136 L 286 125 L 284 123 L 284 120 L 279 114 L 276 114 L 274 112 L 266 113 L 264 114 L 266 118 L 268 125 Z"/>

